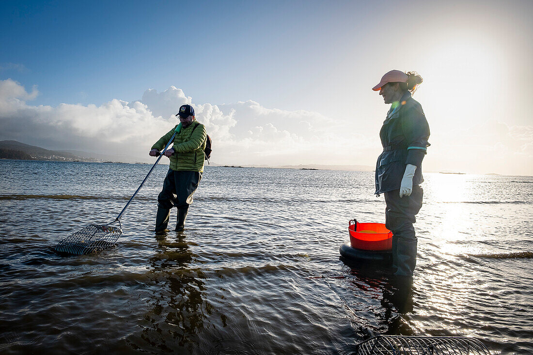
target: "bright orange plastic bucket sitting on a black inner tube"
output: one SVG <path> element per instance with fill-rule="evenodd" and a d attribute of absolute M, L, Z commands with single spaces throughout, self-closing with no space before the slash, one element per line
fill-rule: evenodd
<path fill-rule="evenodd" d="M 351 220 L 348 224 L 350 245 L 363 250 L 391 250 L 392 232 L 384 223 L 359 223 Z"/>

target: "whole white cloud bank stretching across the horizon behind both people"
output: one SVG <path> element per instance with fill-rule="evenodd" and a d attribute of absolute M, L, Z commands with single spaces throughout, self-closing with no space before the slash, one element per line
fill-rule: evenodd
<path fill-rule="evenodd" d="M 219 164 L 373 166 L 381 150 L 375 127 L 371 134 L 363 128 L 374 121 L 359 116 L 333 119 L 305 110 L 265 108 L 251 100 L 193 104 L 174 86 L 160 93 L 147 90 L 139 101 L 113 99 L 100 106 L 29 104 L 38 94 L 36 87 L 27 92 L 12 79 L 0 80 L 1 140 L 149 160 L 152 144 L 177 123 L 177 109 L 189 103 L 213 139 L 212 161 Z M 533 126 L 488 120 L 482 126 L 461 127 L 440 125 L 432 131 L 426 170 L 533 174 Z"/>

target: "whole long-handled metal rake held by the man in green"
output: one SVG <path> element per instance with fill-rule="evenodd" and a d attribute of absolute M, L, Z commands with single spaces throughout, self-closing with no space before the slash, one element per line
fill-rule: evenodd
<path fill-rule="evenodd" d="M 103 225 L 87 225 L 87 227 L 75 233 L 72 233 L 67 238 L 61 240 L 55 247 L 52 248 L 53 251 L 61 255 L 83 255 L 94 252 L 101 252 L 104 249 L 114 247 L 117 243 L 118 237 L 122 235 L 122 224 L 120 224 L 120 217 L 122 217 L 122 214 L 124 213 L 124 211 L 126 211 L 126 208 L 130 205 L 135 195 L 137 195 L 137 193 L 141 190 L 142 185 L 144 185 L 146 180 L 148 180 L 148 176 L 150 176 L 152 171 L 154 171 L 157 163 L 159 163 L 159 160 L 165 154 L 165 151 L 167 150 L 168 146 L 174 141 L 175 135 L 176 133 L 174 132 L 174 135 L 168 141 L 167 145 L 165 146 L 165 149 L 163 149 L 162 152 L 159 152 L 159 157 L 154 163 L 154 166 L 152 166 L 152 168 L 146 175 L 146 178 L 144 178 L 137 191 L 135 191 L 130 200 L 128 200 L 128 203 L 118 214 L 115 221 Z M 118 222 L 118 227 L 111 227 L 110 224 L 113 224 L 115 222 Z"/>

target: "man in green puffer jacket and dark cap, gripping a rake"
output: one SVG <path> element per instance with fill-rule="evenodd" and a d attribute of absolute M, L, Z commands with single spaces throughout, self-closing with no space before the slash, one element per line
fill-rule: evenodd
<path fill-rule="evenodd" d="M 156 232 L 167 231 L 172 207 L 177 207 L 176 231 L 185 229 L 185 217 L 192 203 L 192 194 L 198 188 L 204 172 L 204 149 L 206 145 L 205 126 L 196 122 L 195 110 L 182 105 L 176 114 L 180 124 L 161 137 L 150 151 L 150 156 L 159 156 L 174 132 L 173 146 L 165 151 L 170 159 L 170 168 L 163 182 L 163 190 L 157 197 Z"/>

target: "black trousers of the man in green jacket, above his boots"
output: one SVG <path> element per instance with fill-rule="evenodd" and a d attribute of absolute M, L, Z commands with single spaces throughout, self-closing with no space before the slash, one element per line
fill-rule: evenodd
<path fill-rule="evenodd" d="M 163 182 L 163 190 L 157 197 L 157 206 L 171 209 L 189 208 L 192 204 L 192 194 L 195 193 L 200 184 L 202 174 L 197 171 L 175 171 L 168 170 Z"/>

